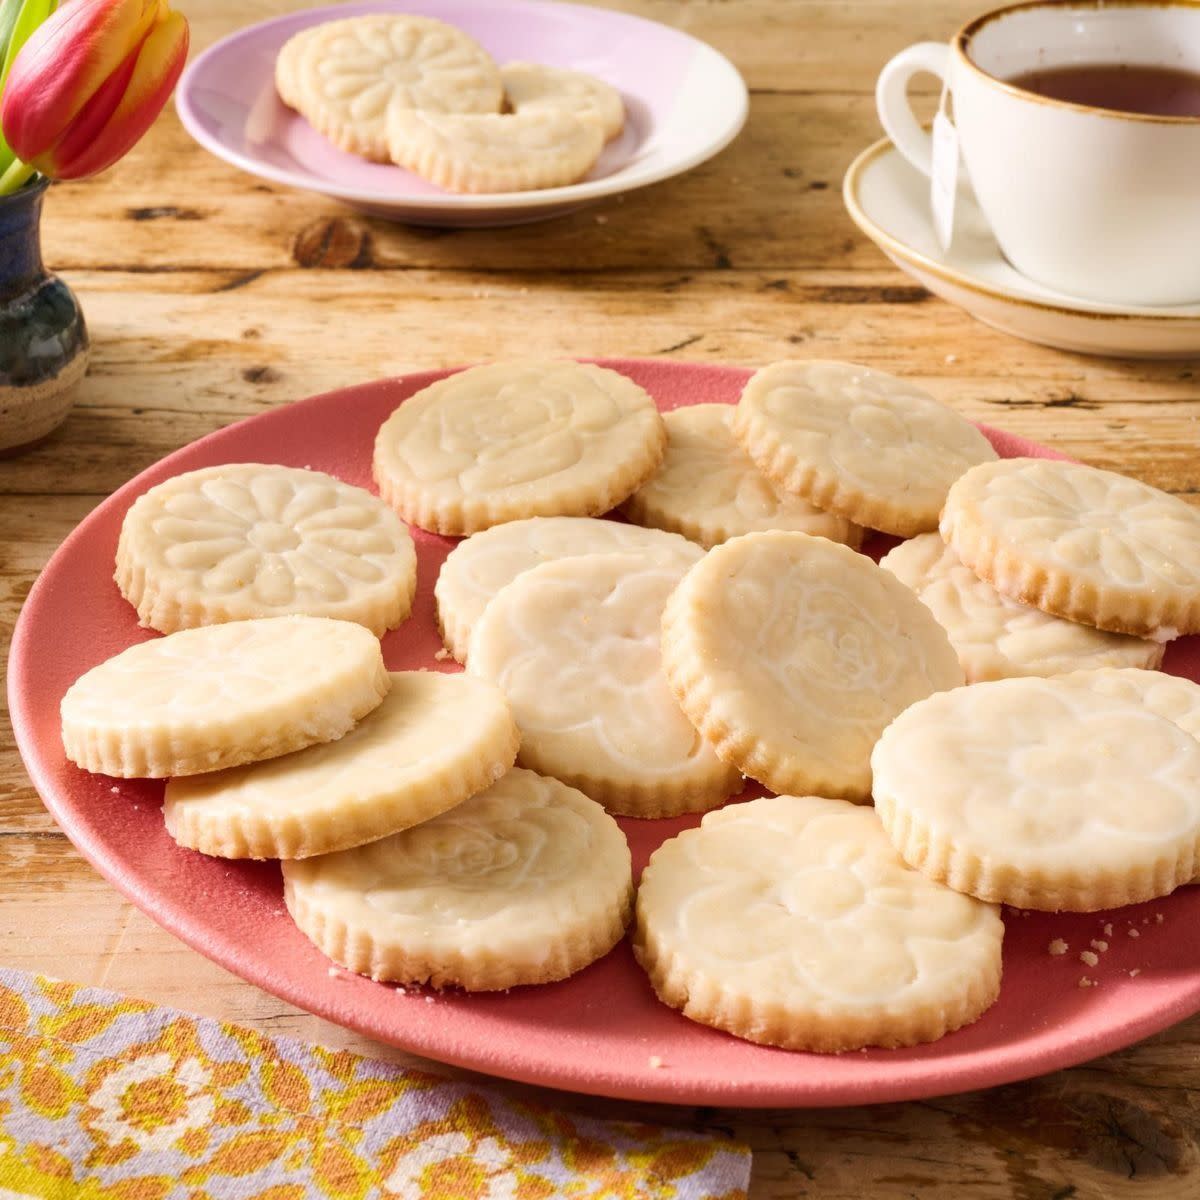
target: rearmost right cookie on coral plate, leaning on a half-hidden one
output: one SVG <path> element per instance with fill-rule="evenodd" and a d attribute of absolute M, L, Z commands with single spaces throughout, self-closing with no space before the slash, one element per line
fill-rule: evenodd
<path fill-rule="evenodd" d="M 952 408 L 850 362 L 775 362 L 746 384 L 733 432 L 780 487 L 900 538 L 937 528 L 950 484 L 996 457 Z"/>

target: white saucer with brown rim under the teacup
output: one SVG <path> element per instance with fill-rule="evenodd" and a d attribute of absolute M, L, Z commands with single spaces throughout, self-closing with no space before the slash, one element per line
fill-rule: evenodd
<path fill-rule="evenodd" d="M 1200 305 L 1122 307 L 1034 283 L 1001 254 L 967 185 L 959 187 L 954 241 L 937 245 L 929 180 L 883 138 L 850 166 L 851 218 L 901 270 L 986 325 L 1080 354 L 1177 359 L 1200 355 Z"/>

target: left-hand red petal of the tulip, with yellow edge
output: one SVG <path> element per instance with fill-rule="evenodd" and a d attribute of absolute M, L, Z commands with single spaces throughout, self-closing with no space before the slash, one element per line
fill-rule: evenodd
<path fill-rule="evenodd" d="M 161 0 L 72 0 L 17 55 L 0 125 L 26 162 L 46 154 L 145 38 Z"/>

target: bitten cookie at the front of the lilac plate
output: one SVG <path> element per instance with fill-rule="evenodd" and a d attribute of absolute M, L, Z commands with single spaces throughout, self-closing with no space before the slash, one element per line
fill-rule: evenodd
<path fill-rule="evenodd" d="M 448 192 L 532 192 L 582 179 L 604 149 L 596 121 L 571 113 L 426 113 L 388 116 L 388 152 Z"/>

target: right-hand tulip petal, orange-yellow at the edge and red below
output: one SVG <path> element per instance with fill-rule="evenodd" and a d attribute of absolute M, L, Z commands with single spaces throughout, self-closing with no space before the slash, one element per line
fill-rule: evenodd
<path fill-rule="evenodd" d="M 187 60 L 187 22 L 180 13 L 150 31 L 42 158 L 54 179 L 95 175 L 124 157 L 162 112 Z"/>

